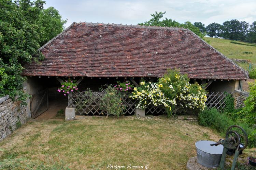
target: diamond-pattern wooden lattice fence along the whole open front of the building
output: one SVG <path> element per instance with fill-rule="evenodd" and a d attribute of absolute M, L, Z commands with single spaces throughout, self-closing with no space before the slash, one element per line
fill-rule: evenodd
<path fill-rule="evenodd" d="M 74 107 L 77 115 L 106 115 L 105 111 L 100 109 L 100 98 L 104 95 L 102 92 L 92 92 L 93 100 L 88 100 L 88 92 L 76 92 L 69 94 L 69 107 Z M 207 101 L 205 102 L 208 108 L 216 108 L 221 110 L 225 107 L 225 97 L 228 95 L 227 92 L 209 92 L 207 94 Z M 126 105 L 125 115 L 133 115 L 135 112 L 136 101 L 129 98 L 130 94 L 126 93 L 125 102 Z M 160 115 L 166 114 L 165 108 L 161 106 L 148 106 L 146 108 L 147 115 Z"/>

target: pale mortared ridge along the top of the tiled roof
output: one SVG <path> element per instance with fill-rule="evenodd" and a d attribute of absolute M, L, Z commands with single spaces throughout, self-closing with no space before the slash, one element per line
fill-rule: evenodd
<path fill-rule="evenodd" d="M 181 28 L 181 27 L 161 27 L 161 26 L 141 26 L 139 24 L 137 25 L 127 25 L 127 24 L 115 24 L 115 23 L 93 23 L 93 22 L 74 22 L 75 24 L 79 25 L 79 24 L 85 24 L 88 26 L 113 26 L 113 27 L 128 27 L 128 28 L 147 28 L 147 29 L 167 29 L 167 30 L 188 30 L 186 28 Z"/>

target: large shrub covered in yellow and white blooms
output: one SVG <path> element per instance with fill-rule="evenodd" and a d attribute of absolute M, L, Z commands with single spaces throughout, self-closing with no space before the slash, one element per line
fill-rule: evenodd
<path fill-rule="evenodd" d="M 138 100 L 137 108 L 145 109 L 150 104 L 165 106 L 169 115 L 184 107 L 203 110 L 207 100 L 205 90 L 198 83 L 190 84 L 188 77 L 177 71 L 168 71 L 157 83 L 142 81 L 130 97 Z"/>

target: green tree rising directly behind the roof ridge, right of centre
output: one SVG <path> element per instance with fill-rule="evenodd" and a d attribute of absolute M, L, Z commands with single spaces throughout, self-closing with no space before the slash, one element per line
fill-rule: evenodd
<path fill-rule="evenodd" d="M 160 19 L 163 17 L 163 15 L 165 13 L 166 12 L 159 12 L 159 13 L 155 12 L 155 14 L 151 14 L 151 16 L 153 17 L 152 19 L 150 19 L 149 21 L 143 22 L 143 23 L 139 23 L 139 25 L 141 25 L 141 26 L 158 26 L 158 27 L 183 27 L 183 28 L 187 28 L 187 29 L 191 30 L 192 32 L 197 34 L 199 37 L 203 38 L 204 34 L 202 34 L 201 31 L 199 30 L 199 28 L 195 27 L 189 21 L 182 23 L 182 24 L 175 20 L 168 19 L 168 18 L 165 18 L 162 21 L 160 21 Z"/>

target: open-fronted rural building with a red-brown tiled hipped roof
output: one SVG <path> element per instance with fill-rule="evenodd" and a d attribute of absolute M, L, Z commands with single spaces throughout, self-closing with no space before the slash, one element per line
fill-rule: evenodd
<path fill-rule="evenodd" d="M 57 89 L 68 78 L 81 82 L 82 91 L 97 90 L 125 79 L 135 85 L 141 78 L 154 81 L 167 69 L 179 69 L 191 82 L 221 92 L 239 89 L 248 78 L 245 70 L 184 28 L 74 22 L 39 50 L 44 60 L 23 71 L 28 77 L 24 86 L 33 96 L 28 101 L 32 117 L 53 103 L 67 105 Z"/>

